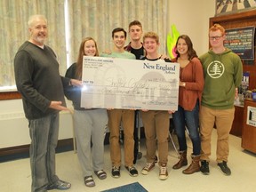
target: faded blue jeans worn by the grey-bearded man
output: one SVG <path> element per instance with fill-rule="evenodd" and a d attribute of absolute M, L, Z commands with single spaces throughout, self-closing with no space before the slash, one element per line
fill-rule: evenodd
<path fill-rule="evenodd" d="M 31 191 L 46 191 L 59 178 L 55 174 L 55 148 L 59 136 L 59 113 L 28 120 Z"/>

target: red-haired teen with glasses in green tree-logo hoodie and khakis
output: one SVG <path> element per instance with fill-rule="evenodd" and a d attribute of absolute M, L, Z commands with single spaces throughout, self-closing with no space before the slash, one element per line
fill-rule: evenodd
<path fill-rule="evenodd" d="M 243 66 L 236 53 L 226 48 L 225 29 L 214 24 L 209 29 L 211 49 L 200 58 L 204 68 L 204 92 L 199 112 L 201 172 L 209 174 L 212 128 L 217 130 L 217 164 L 225 175 L 228 167 L 228 136 L 234 119 L 236 88 L 241 84 Z"/>

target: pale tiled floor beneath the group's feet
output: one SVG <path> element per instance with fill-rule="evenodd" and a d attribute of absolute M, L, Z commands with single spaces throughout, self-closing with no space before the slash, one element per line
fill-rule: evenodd
<path fill-rule="evenodd" d="M 175 139 L 175 135 L 172 136 Z M 177 142 L 176 142 L 177 143 Z M 141 140 L 140 151 L 143 156 L 138 160 L 136 167 L 141 170 L 146 163 L 145 158 L 145 140 Z M 256 191 L 256 155 L 244 151 L 241 148 L 241 138 L 230 136 L 230 155 L 228 166 L 231 168 L 231 176 L 225 176 L 220 172 L 215 163 L 216 132 L 212 133 L 212 161 L 210 163 L 210 172 L 208 176 L 201 172 L 192 175 L 184 175 L 181 170 L 172 170 L 172 165 L 178 161 L 178 158 L 170 143 L 169 152 L 169 178 L 168 180 L 158 180 L 158 166 L 148 175 L 140 174 L 132 178 L 128 172 L 121 169 L 121 178 L 114 179 L 110 175 L 111 164 L 109 161 L 108 145 L 105 147 L 105 171 L 108 172 L 106 180 L 98 180 L 93 175 L 96 182 L 94 188 L 84 186 L 80 165 L 76 154 L 73 151 L 57 154 L 57 173 L 62 180 L 68 180 L 72 183 L 69 192 L 82 191 L 101 191 L 108 188 L 116 188 L 125 184 L 138 181 L 141 186 L 150 192 L 155 191 L 173 191 L 173 192 L 253 192 Z M 191 146 L 191 143 L 188 143 Z M 189 151 L 191 152 L 191 148 Z M 188 158 L 189 159 L 189 158 Z M 190 163 L 190 159 L 189 159 Z M 29 192 L 31 175 L 29 168 L 29 159 L 20 159 L 0 164 L 0 191 L 1 192 Z M 52 190 L 57 191 L 57 190 Z"/>

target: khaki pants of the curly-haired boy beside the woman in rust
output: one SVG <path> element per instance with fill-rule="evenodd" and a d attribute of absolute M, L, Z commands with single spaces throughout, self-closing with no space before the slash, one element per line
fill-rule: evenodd
<path fill-rule="evenodd" d="M 167 111 L 141 111 L 147 147 L 147 162 L 153 163 L 156 156 L 156 140 L 158 145 L 159 165 L 168 162 L 169 114 Z"/>

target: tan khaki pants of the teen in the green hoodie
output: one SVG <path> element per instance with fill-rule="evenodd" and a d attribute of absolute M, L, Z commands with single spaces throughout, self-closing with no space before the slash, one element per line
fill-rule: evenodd
<path fill-rule="evenodd" d="M 217 162 L 228 162 L 228 136 L 234 120 L 235 108 L 212 109 L 204 106 L 200 109 L 201 160 L 209 161 L 211 156 L 211 136 L 214 124 L 217 130 Z"/>

